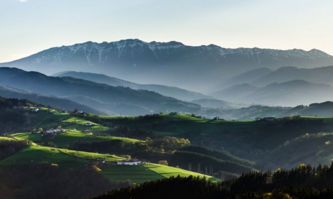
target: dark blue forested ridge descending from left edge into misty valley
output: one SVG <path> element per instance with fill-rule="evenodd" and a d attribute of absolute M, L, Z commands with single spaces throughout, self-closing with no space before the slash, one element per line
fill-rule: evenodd
<path fill-rule="evenodd" d="M 102 111 L 108 114 L 142 115 L 159 111 L 195 112 L 200 105 L 166 97 L 153 91 L 134 90 L 120 86 L 110 86 L 73 77 L 51 77 L 39 72 L 27 72 L 17 68 L 0 68 L 0 85 L 28 90 L 38 94 L 67 97 L 74 101 L 90 99 L 104 104 Z M 81 104 L 92 106 L 85 100 Z"/>

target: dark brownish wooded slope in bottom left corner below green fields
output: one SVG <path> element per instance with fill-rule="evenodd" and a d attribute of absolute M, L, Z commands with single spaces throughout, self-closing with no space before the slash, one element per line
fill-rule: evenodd
<path fill-rule="evenodd" d="M 110 182 L 91 167 L 64 170 L 56 164 L 1 165 L 1 199 L 84 199 L 130 183 Z"/>

